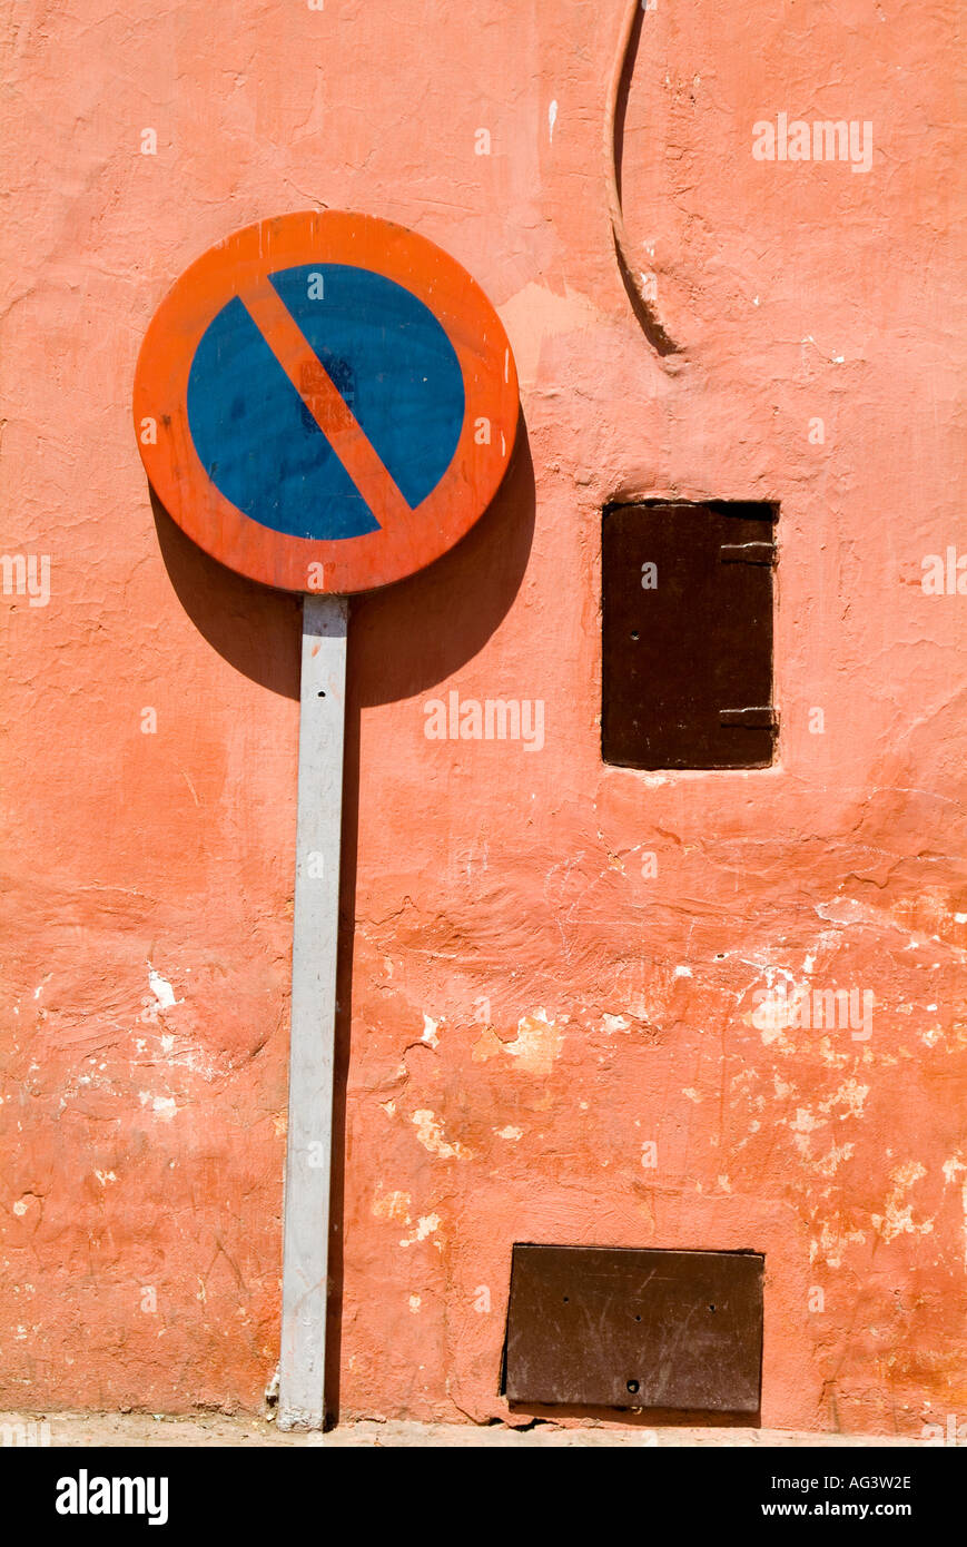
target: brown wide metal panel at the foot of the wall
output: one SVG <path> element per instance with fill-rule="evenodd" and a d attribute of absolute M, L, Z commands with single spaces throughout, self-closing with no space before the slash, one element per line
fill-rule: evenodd
<path fill-rule="evenodd" d="M 507 1400 L 758 1412 L 763 1265 L 752 1252 L 515 1245 Z"/>

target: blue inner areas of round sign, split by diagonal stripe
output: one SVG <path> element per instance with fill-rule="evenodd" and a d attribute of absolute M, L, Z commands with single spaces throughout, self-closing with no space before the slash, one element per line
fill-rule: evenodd
<path fill-rule="evenodd" d="M 446 331 L 402 285 L 345 263 L 269 275 L 364 435 L 415 509 L 453 459 L 464 418 Z M 187 416 L 217 489 L 260 526 L 333 540 L 379 529 L 313 416 L 311 374 L 296 390 L 235 297 L 195 351 Z"/>

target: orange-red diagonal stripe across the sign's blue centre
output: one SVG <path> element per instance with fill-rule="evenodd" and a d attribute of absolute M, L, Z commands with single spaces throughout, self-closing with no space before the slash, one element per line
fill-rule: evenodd
<path fill-rule="evenodd" d="M 271 280 L 240 300 L 379 524 L 405 520 L 410 506 Z"/>

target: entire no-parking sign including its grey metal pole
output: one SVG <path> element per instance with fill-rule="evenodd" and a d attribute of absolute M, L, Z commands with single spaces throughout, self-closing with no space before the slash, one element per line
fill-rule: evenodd
<path fill-rule="evenodd" d="M 517 416 L 480 286 L 367 215 L 227 237 L 162 300 L 138 359 L 135 430 L 169 514 L 231 569 L 303 593 L 282 1428 L 325 1416 L 347 594 L 460 541 Z"/>

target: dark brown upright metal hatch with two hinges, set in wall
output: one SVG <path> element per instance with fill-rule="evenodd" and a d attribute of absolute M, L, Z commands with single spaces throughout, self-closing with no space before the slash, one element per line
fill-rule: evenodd
<path fill-rule="evenodd" d="M 774 534 L 767 504 L 605 511 L 607 763 L 716 769 L 772 761 Z"/>

